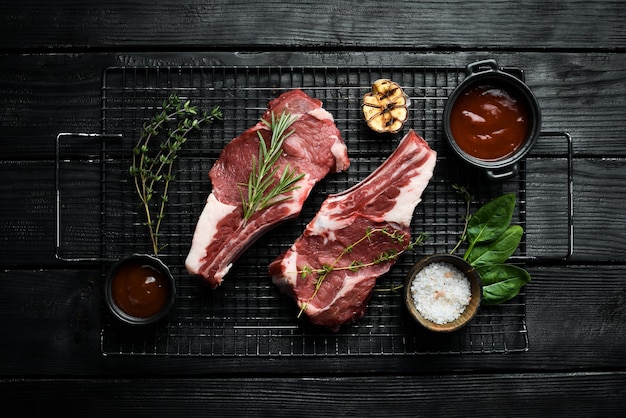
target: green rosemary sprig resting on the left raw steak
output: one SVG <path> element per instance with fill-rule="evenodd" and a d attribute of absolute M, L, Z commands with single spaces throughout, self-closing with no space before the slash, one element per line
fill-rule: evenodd
<path fill-rule="evenodd" d="M 281 197 L 281 195 L 300 188 L 296 183 L 304 177 L 304 174 L 298 174 L 295 169 L 292 170 L 289 167 L 289 164 L 286 165 L 278 181 L 274 179 L 278 171 L 275 164 L 282 153 L 285 139 L 295 132 L 294 129 L 290 131 L 288 129 L 296 119 L 296 116 L 283 111 L 278 119 L 272 112 L 270 121 L 261 120 L 271 130 L 272 136 L 268 148 L 261 132 L 257 131 L 259 156 L 258 159 L 252 159 L 252 170 L 248 183 L 239 185 L 244 222 L 247 222 L 255 212 L 290 199 L 290 196 Z M 242 188 L 246 191 L 242 191 Z"/>

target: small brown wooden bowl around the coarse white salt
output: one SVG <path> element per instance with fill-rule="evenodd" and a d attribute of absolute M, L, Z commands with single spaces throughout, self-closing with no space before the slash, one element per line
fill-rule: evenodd
<path fill-rule="evenodd" d="M 413 281 L 415 280 L 417 274 L 426 266 L 432 263 L 449 263 L 452 266 L 456 267 L 458 270 L 460 270 L 470 282 L 471 298 L 469 304 L 465 307 L 465 310 L 460 314 L 458 318 L 443 324 L 433 322 L 425 318 L 424 315 L 422 315 L 422 313 L 417 309 L 417 306 L 415 305 L 415 300 L 413 298 L 413 293 L 411 290 L 411 285 L 413 284 Z M 467 261 L 463 260 L 462 258 L 451 254 L 435 254 L 427 256 L 420 260 L 409 271 L 404 288 L 405 305 L 409 310 L 411 316 L 425 328 L 436 332 L 451 332 L 465 326 L 474 318 L 476 312 L 478 312 L 482 297 L 480 276 L 478 275 L 474 267 L 472 267 Z"/>

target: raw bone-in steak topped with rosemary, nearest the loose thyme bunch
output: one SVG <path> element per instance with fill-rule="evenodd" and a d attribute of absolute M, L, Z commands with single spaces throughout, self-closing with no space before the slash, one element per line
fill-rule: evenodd
<path fill-rule="evenodd" d="M 209 171 L 212 191 L 198 219 L 185 266 L 211 287 L 217 287 L 232 263 L 260 235 L 277 223 L 296 217 L 311 189 L 330 171 L 339 172 L 350 165 L 346 145 L 333 117 L 322 102 L 301 90 L 291 90 L 270 101 L 262 119 L 276 118 L 283 110 L 297 116 L 290 129 L 295 132 L 283 143 L 283 154 L 276 162 L 276 177 L 288 164 L 305 174 L 299 188 L 289 199 L 256 212 L 243 221 L 242 184 L 247 184 L 253 159 L 258 158 L 260 131 L 269 145 L 271 131 L 257 123 L 227 144 Z"/>

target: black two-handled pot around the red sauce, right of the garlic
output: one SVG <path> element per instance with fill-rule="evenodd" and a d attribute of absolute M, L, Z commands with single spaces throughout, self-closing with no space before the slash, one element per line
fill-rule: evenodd
<path fill-rule="evenodd" d="M 446 101 L 443 112 L 443 127 L 448 144 L 452 150 L 466 163 L 485 170 L 492 180 L 513 177 L 518 172 L 518 162 L 533 148 L 541 133 L 541 109 L 535 95 L 528 86 L 514 75 L 501 70 L 494 60 L 477 61 L 467 65 L 467 77 L 453 90 Z M 451 119 L 454 117 L 453 108 L 461 96 L 480 86 L 494 86 L 504 90 L 514 97 L 519 106 L 527 113 L 526 135 L 521 145 L 512 153 L 494 158 L 478 158 L 457 143 L 451 128 Z M 457 112 L 458 108 L 454 108 Z"/>

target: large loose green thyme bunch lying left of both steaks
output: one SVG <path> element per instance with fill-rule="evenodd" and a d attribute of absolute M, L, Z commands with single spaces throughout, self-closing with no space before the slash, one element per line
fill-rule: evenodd
<path fill-rule="evenodd" d="M 170 183 L 174 180 L 172 167 L 182 145 L 193 130 L 222 119 L 216 106 L 210 112 L 199 112 L 189 100 L 182 101 L 172 94 L 163 101 L 162 110 L 144 123 L 133 148 L 130 174 L 145 212 L 144 225 L 148 227 L 152 251 L 158 255 L 161 222 L 169 199 Z M 158 145 L 154 144 L 157 142 Z M 159 197 L 159 202 L 155 202 Z"/>

